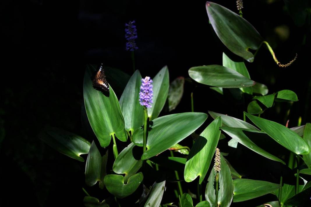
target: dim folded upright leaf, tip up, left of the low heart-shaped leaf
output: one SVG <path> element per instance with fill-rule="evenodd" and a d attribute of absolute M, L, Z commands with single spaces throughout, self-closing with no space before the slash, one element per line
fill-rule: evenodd
<path fill-rule="evenodd" d="M 85 165 L 85 183 L 87 186 L 93 186 L 97 181 L 100 182 L 100 188 L 104 188 L 104 177 L 106 175 L 106 164 L 108 151 L 102 157 L 98 151 L 95 142 L 91 144 L 89 154 L 87 155 Z"/>

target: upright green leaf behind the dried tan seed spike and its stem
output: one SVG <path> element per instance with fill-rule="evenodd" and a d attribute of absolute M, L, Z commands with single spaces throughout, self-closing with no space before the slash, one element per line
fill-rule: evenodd
<path fill-rule="evenodd" d="M 219 190 L 218 190 L 218 205 L 222 207 L 229 207 L 233 198 L 233 181 L 231 178 L 231 172 L 224 157 L 220 155 L 220 168 L 219 171 Z M 211 174 L 208 178 L 208 183 L 205 189 L 205 199 L 211 206 L 215 206 L 216 194 L 215 194 L 215 169 L 212 168 Z"/>

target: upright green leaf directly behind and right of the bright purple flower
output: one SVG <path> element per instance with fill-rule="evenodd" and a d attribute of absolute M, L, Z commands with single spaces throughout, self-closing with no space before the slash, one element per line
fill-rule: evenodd
<path fill-rule="evenodd" d="M 164 66 L 156 74 L 152 81 L 153 104 L 151 108 L 148 108 L 148 117 L 150 120 L 155 119 L 159 116 L 169 93 L 169 70 L 167 66 Z"/>

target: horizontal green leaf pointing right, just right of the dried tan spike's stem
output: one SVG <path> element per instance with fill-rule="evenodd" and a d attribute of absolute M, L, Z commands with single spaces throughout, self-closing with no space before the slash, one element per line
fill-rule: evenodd
<path fill-rule="evenodd" d="M 233 202 L 257 198 L 281 187 L 279 184 L 272 182 L 243 178 L 233 180 L 233 186 Z"/>

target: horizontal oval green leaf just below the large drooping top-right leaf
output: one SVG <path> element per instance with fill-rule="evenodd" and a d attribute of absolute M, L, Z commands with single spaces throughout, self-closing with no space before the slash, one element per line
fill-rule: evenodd
<path fill-rule="evenodd" d="M 192 67 L 188 70 L 188 74 L 198 83 L 215 87 L 244 88 L 255 84 L 249 78 L 222 65 Z"/>

